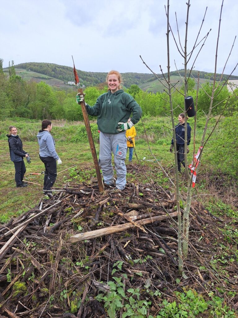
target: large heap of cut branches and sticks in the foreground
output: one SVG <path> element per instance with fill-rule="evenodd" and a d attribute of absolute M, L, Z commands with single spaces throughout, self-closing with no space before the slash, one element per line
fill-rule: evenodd
<path fill-rule="evenodd" d="M 2 317 L 126 317 L 133 301 L 135 315 L 147 317 L 142 309 L 149 304 L 153 317 L 163 298 L 174 300 L 185 286 L 238 290 L 237 260 L 228 256 L 230 279 L 210 262 L 220 253 L 225 223 L 199 202 L 191 208 L 181 276 L 175 197 L 168 190 L 134 183 L 122 192 L 100 193 L 96 183 L 54 190 L 51 199 L 0 226 Z"/>

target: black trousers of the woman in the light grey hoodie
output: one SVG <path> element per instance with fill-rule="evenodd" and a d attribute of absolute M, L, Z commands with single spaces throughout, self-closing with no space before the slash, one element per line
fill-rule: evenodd
<path fill-rule="evenodd" d="M 56 159 L 53 157 L 41 157 L 41 161 L 45 165 L 45 176 L 44 176 L 44 187 L 43 190 L 50 190 L 53 187 L 56 176 L 57 176 L 57 166 Z"/>

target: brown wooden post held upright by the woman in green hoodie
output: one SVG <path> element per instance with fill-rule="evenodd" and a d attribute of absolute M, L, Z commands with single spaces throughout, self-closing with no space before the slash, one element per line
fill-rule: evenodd
<path fill-rule="evenodd" d="M 80 93 L 80 95 L 83 95 L 83 90 L 81 88 L 79 88 L 78 89 L 78 93 Z M 103 192 L 104 191 L 104 187 L 103 187 L 103 183 L 102 183 L 102 176 L 101 176 L 101 173 L 100 173 L 100 168 L 99 168 L 99 164 L 98 164 L 98 160 L 97 160 L 95 144 L 94 144 L 94 141 L 93 141 L 93 136 L 92 136 L 92 132 L 91 132 L 90 124 L 89 124 L 89 117 L 88 117 L 88 113 L 87 113 L 87 110 L 86 110 L 85 101 L 84 100 L 81 101 L 80 105 L 82 107 L 83 119 L 84 119 L 86 131 L 87 131 L 87 135 L 88 135 L 88 138 L 89 138 L 89 145 L 90 145 L 91 153 L 92 153 L 92 156 L 93 156 L 94 166 L 95 166 L 95 169 L 96 169 L 96 175 L 97 175 L 97 182 L 98 182 L 99 191 Z"/>

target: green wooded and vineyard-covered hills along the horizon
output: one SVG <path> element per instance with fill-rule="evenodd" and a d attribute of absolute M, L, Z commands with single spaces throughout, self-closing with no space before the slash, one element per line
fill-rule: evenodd
<path fill-rule="evenodd" d="M 74 81 L 73 68 L 52 63 L 22 63 L 15 66 L 16 74 L 23 79 L 34 79 L 35 81 L 44 81 L 51 86 L 59 88 L 69 88 L 68 81 Z M 5 73 L 8 68 L 3 69 Z M 105 82 L 107 73 L 104 72 L 85 72 L 77 70 L 80 78 L 81 86 L 97 86 Z M 179 70 L 181 76 L 184 76 L 184 70 Z M 162 77 L 161 74 L 158 74 Z M 178 83 L 178 87 L 182 85 L 181 78 L 177 71 L 170 72 L 172 84 Z M 167 73 L 164 74 L 167 77 Z M 197 78 L 198 71 L 193 70 L 192 76 Z M 216 80 L 220 79 L 221 74 L 216 74 Z M 226 80 L 229 75 L 223 74 L 222 79 Z M 122 73 L 123 86 L 129 88 L 131 85 L 138 85 L 142 90 L 149 92 L 162 92 L 164 86 L 151 73 Z M 212 81 L 213 73 L 200 71 L 200 83 Z M 230 76 L 230 79 L 235 79 L 237 76 Z M 181 83 L 180 83 L 181 82 Z M 177 86 L 177 85 L 176 85 Z"/>

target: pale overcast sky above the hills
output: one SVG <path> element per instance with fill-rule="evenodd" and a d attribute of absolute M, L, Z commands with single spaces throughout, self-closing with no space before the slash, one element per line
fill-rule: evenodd
<path fill-rule="evenodd" d="M 214 72 L 215 49 L 221 0 L 191 0 L 188 21 L 188 52 L 200 32 L 201 40 L 211 28 L 195 69 Z M 25 62 L 47 62 L 75 66 L 82 71 L 121 73 L 167 72 L 167 22 L 164 5 L 167 0 L 1 0 L 0 58 L 3 67 L 10 60 L 15 65 Z M 170 0 L 169 16 L 176 39 L 178 27 L 182 47 L 187 14 L 186 0 Z M 238 33 L 238 1 L 224 0 L 218 47 L 217 72 L 221 73 Z M 170 32 L 171 35 L 171 32 Z M 201 45 L 198 47 L 198 49 Z M 192 66 L 195 51 L 188 67 Z M 170 36 L 170 70 L 184 68 Z M 229 74 L 238 62 L 238 39 L 235 41 L 225 72 Z M 238 68 L 233 73 L 238 75 Z"/>

